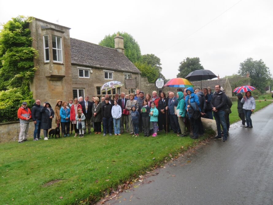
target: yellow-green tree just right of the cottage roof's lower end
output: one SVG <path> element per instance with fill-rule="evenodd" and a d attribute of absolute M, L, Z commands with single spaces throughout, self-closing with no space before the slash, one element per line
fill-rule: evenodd
<path fill-rule="evenodd" d="M 151 66 L 151 65 L 147 64 L 146 62 L 143 63 L 143 62 L 137 61 L 134 64 L 135 64 L 136 68 L 138 68 L 140 70 L 141 76 L 148 78 L 149 83 L 154 83 L 156 81 L 156 79 L 160 73 L 158 68 Z"/>

